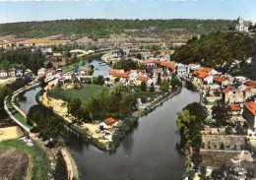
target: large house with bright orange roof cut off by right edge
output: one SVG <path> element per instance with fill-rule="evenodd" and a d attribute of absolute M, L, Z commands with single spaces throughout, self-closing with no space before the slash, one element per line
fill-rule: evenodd
<path fill-rule="evenodd" d="M 243 113 L 244 119 L 247 121 L 247 125 L 255 130 L 256 129 L 256 102 L 250 101 L 244 103 Z"/>

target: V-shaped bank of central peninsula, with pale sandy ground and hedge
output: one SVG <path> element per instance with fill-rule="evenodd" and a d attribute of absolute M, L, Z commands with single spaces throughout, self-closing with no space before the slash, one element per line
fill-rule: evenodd
<path fill-rule="evenodd" d="M 138 111 L 133 113 L 133 116 L 127 117 L 121 122 L 118 123 L 116 130 L 110 130 L 113 134 L 112 139 L 105 139 L 105 132 L 99 132 L 99 123 L 92 124 L 92 123 L 81 123 L 80 125 L 76 125 L 73 123 L 73 120 L 76 119 L 75 117 L 68 115 L 68 108 L 67 103 L 61 99 L 55 99 L 52 97 L 48 97 L 48 90 L 51 90 L 54 86 L 56 86 L 57 82 L 51 82 L 48 84 L 41 96 L 38 96 L 39 103 L 46 107 L 51 107 L 53 111 L 60 117 L 64 119 L 66 124 L 72 124 L 73 127 L 76 127 L 75 131 L 79 130 L 79 132 L 84 134 L 84 137 L 90 137 L 92 145 L 96 146 L 98 150 L 114 150 L 118 147 L 121 140 L 125 137 L 125 135 L 133 128 L 133 125 L 137 122 L 137 120 L 147 115 L 152 109 L 156 108 L 160 105 L 164 100 L 166 100 L 169 96 L 174 95 L 176 92 L 180 91 L 181 89 L 178 88 L 171 92 L 166 92 L 163 95 L 160 95 L 155 100 L 148 104 L 148 108 L 143 111 Z M 124 128 L 125 127 L 125 128 Z M 84 131 L 84 133 L 83 133 Z M 78 132 L 78 133 L 79 133 Z M 109 132 L 109 131 L 107 131 Z"/>

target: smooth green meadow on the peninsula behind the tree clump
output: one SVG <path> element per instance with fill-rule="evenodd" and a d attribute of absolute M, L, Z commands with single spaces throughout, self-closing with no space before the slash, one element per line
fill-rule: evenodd
<path fill-rule="evenodd" d="M 82 85 L 80 90 L 62 90 L 62 89 L 53 89 L 47 92 L 49 97 L 56 99 L 67 99 L 67 98 L 80 98 L 83 103 L 88 102 L 93 97 L 98 96 L 104 87 L 97 85 Z"/>

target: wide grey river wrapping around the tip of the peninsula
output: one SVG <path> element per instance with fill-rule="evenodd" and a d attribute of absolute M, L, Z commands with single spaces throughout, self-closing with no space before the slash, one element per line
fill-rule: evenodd
<path fill-rule="evenodd" d="M 34 104 L 38 89 L 25 93 L 27 100 L 21 104 L 23 110 Z M 175 118 L 177 112 L 194 101 L 199 101 L 197 92 L 181 90 L 179 95 L 140 118 L 115 152 L 96 150 L 72 134 L 65 140 L 67 149 L 78 162 L 83 179 L 182 179 L 185 158 L 175 150 L 180 139 Z"/>

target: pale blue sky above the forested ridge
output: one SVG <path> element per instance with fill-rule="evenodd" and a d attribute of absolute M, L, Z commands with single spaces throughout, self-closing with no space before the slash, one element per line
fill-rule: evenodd
<path fill-rule="evenodd" d="M 0 24 L 61 19 L 256 21 L 256 0 L 0 0 Z"/>

